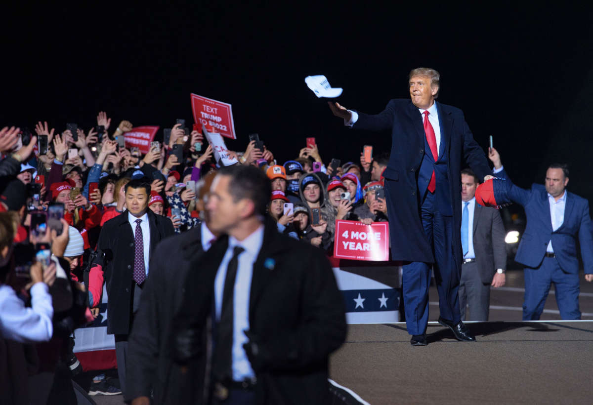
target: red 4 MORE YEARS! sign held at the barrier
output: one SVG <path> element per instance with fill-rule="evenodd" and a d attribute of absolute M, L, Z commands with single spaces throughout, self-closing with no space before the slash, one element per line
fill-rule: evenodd
<path fill-rule="evenodd" d="M 365 225 L 356 221 L 336 221 L 334 257 L 350 260 L 389 260 L 389 224 L 373 222 Z"/>

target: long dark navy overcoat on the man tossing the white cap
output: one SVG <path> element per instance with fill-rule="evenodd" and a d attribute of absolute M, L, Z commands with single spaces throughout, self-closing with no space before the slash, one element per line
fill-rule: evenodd
<path fill-rule="evenodd" d="M 479 178 L 491 172 L 486 155 L 474 141 L 463 112 L 441 103 L 436 103 L 436 109 L 441 126 L 439 157 L 445 155 L 447 158 L 447 170 L 436 172 L 436 184 L 437 188 L 441 184 L 449 187 L 449 201 L 444 203 L 451 206 L 453 213 L 452 248 L 461 268 L 461 161 L 466 161 Z M 426 139 L 420 111 L 409 99 L 394 99 L 379 114 L 357 113 L 355 129 L 391 129 L 391 155 L 383 176 L 390 207 L 393 260 L 433 263 L 432 245 L 422 227 L 421 202 L 417 195 L 417 171 L 425 155 Z"/>

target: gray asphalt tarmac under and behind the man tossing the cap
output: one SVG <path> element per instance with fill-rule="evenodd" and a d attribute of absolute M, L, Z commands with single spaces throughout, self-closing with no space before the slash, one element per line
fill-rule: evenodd
<path fill-rule="evenodd" d="M 436 323 L 413 347 L 405 323 L 350 325 L 330 358 L 330 377 L 370 404 L 588 404 L 593 398 L 593 321 L 560 321 L 553 287 L 539 322 L 521 321 L 522 270 L 490 292 L 487 323 L 468 323 L 477 342 L 457 342 Z M 430 321 L 438 319 L 431 287 Z M 582 320 L 593 320 L 593 283 L 581 273 Z M 471 311 L 471 308 L 468 308 Z M 95 396 L 100 405 L 122 396 Z"/>

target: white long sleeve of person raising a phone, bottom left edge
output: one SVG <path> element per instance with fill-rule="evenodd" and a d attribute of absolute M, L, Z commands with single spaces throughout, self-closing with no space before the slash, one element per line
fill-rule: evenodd
<path fill-rule="evenodd" d="M 0 336 L 16 342 L 46 342 L 53 334 L 52 296 L 46 283 L 31 287 L 31 308 L 14 289 L 0 285 Z"/>

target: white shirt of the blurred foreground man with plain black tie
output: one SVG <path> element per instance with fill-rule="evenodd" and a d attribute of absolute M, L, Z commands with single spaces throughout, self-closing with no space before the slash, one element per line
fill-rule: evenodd
<path fill-rule="evenodd" d="M 232 379 L 243 381 L 246 378 L 255 378 L 251 363 L 247 359 L 244 343 L 247 343 L 247 336 L 243 333 L 249 329 L 249 296 L 251 293 L 251 277 L 253 276 L 253 264 L 257 255 L 262 249 L 263 225 L 257 228 L 253 234 L 242 241 L 234 237 L 228 238 L 227 253 L 216 273 L 214 280 L 214 298 L 216 305 L 216 320 L 220 320 L 222 311 L 222 294 L 224 283 L 227 278 L 228 262 L 231 261 L 233 249 L 240 246 L 245 249 L 238 257 L 237 278 L 235 278 L 234 299 L 233 299 L 233 329 L 232 329 Z"/>

